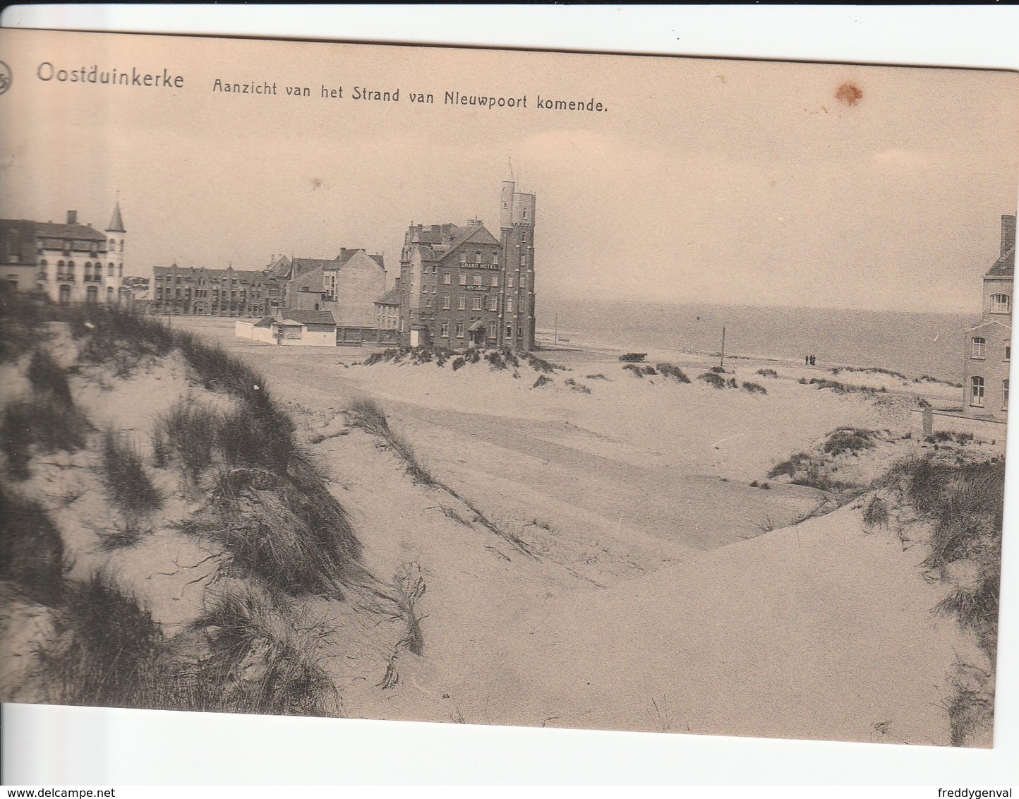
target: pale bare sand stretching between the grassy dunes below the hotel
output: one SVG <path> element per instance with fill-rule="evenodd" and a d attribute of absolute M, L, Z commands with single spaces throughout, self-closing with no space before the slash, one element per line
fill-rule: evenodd
<path fill-rule="evenodd" d="M 888 390 L 839 394 L 799 382 L 822 370 L 735 358 L 735 377 L 766 393 L 717 390 L 637 377 L 619 351 L 571 341 L 541 353 L 567 371 L 533 387 L 524 367 L 365 366 L 370 351 L 171 324 L 265 374 L 304 435 L 323 439 L 312 449 L 369 569 L 423 576 L 423 653 L 398 654 L 387 690 L 372 675 L 346 684 L 345 713 L 947 743 L 946 675 L 973 644 L 931 614 L 947 589 L 922 579 L 920 548 L 868 530 L 859 503 L 794 524 L 822 493 L 767 478 L 839 427 L 883 431 L 869 458 L 836 467 L 860 482 L 919 446 L 904 438 L 915 398 L 898 378 L 843 375 Z M 692 378 L 715 363 L 648 353 L 659 359 Z M 914 390 L 951 402 L 957 389 Z M 364 396 L 457 497 L 413 483 L 360 429 L 330 435 Z M 461 499 L 533 555 L 463 523 Z"/>

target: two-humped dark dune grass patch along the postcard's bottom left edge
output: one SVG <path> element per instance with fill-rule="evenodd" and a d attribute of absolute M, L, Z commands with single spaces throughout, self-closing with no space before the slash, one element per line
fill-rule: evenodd
<path fill-rule="evenodd" d="M 168 640 L 104 574 L 68 582 L 58 640 L 38 652 L 52 701 L 72 705 L 336 715 L 319 645 L 285 597 L 232 585 Z M 200 643 L 201 642 L 201 643 Z"/>

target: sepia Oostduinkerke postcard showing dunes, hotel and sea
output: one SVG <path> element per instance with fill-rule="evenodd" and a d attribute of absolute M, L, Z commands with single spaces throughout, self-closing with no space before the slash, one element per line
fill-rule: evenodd
<path fill-rule="evenodd" d="M 0 698 L 993 743 L 1014 72 L 0 31 Z"/>

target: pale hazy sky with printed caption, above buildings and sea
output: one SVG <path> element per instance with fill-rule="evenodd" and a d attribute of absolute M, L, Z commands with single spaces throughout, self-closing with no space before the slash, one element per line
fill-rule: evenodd
<path fill-rule="evenodd" d="M 1019 190 L 1011 72 L 5 36 L 0 216 L 75 209 L 102 228 L 119 192 L 132 274 L 365 247 L 391 279 L 411 221 L 477 215 L 497 235 L 512 159 L 537 195 L 539 303 L 971 313 Z M 184 88 L 42 82 L 42 61 L 166 68 Z M 275 82 L 277 96 L 213 93 L 217 77 Z M 322 99 L 323 84 L 344 99 Z M 356 86 L 400 100 L 353 101 Z M 451 107 L 445 91 L 529 107 Z M 538 110 L 539 95 L 608 110 Z"/>

